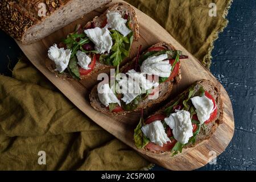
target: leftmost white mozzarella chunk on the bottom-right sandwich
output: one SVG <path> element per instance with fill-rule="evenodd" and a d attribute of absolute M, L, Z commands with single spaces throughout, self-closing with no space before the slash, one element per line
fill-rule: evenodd
<path fill-rule="evenodd" d="M 163 144 L 170 142 L 170 138 L 167 137 L 161 121 L 154 121 L 148 125 L 144 125 L 141 130 L 151 142 L 158 144 L 161 147 L 163 147 Z"/>

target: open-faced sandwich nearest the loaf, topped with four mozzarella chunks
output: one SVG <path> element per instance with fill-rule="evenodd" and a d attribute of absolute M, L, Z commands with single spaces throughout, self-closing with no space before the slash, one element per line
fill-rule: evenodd
<path fill-rule="evenodd" d="M 135 11 L 115 3 L 84 27 L 78 25 L 60 44 L 48 49 L 47 68 L 61 78 L 82 79 L 107 67 L 118 67 L 139 39 Z"/>

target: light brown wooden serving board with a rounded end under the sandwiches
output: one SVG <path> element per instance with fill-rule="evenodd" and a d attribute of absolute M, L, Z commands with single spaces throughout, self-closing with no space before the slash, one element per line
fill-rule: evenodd
<path fill-rule="evenodd" d="M 119 1 L 112 1 L 119 2 Z M 135 9 L 135 8 L 134 8 Z M 82 112 L 90 117 L 94 122 L 100 125 L 102 128 L 113 134 L 115 137 L 126 143 L 144 158 L 150 160 L 152 163 L 163 166 L 172 170 L 192 170 L 200 168 L 209 162 L 210 151 L 216 152 L 216 155 L 220 155 L 228 146 L 234 133 L 234 118 L 232 105 L 226 93 L 226 90 L 221 86 L 221 98 L 224 102 L 224 123 L 218 127 L 216 132 L 209 140 L 198 144 L 193 148 L 183 150 L 182 154 L 171 157 L 170 154 L 151 154 L 143 150 L 137 150 L 133 142 L 133 131 L 137 123 L 139 122 L 139 113 L 131 113 L 125 116 L 108 116 L 104 115 L 90 106 L 89 92 L 93 85 L 97 84 L 97 75 L 93 75 L 91 78 L 82 81 L 68 81 L 57 78 L 53 73 L 49 72 L 45 66 L 45 60 L 47 57 L 47 49 L 52 46 L 53 43 L 59 43 L 61 38 L 68 35 L 69 32 L 74 30 L 77 23 L 84 25 L 96 15 L 100 15 L 104 12 L 105 7 L 97 9 L 84 16 L 84 18 L 76 20 L 68 26 L 56 31 L 52 35 L 47 36 L 43 40 L 30 45 L 22 45 L 19 42 L 18 45 L 22 51 L 26 54 L 28 59 L 39 69 L 69 100 L 73 102 Z M 164 28 L 162 28 L 153 19 L 142 13 L 138 9 L 135 9 L 139 22 L 139 33 L 141 39 L 139 42 L 135 42 L 131 49 L 130 58 L 134 57 L 138 51 L 139 45 L 142 45 L 143 49 L 158 42 L 168 42 L 174 45 L 176 49 L 183 51 L 185 55 L 189 56 L 187 60 L 181 60 L 181 84 L 176 85 L 172 91 L 172 96 L 184 89 L 188 88 L 194 81 L 208 79 L 216 84 L 220 84 L 216 78 L 200 64 L 200 62 L 191 55 L 184 47 L 182 47 Z M 150 113 L 148 113 L 150 114 Z"/>

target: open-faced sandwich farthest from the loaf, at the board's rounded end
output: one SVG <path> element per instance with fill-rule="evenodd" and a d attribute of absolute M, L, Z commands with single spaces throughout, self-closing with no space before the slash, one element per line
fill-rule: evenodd
<path fill-rule="evenodd" d="M 222 123 L 219 87 L 197 81 L 134 130 L 135 146 L 151 152 L 178 154 L 209 139 Z"/>

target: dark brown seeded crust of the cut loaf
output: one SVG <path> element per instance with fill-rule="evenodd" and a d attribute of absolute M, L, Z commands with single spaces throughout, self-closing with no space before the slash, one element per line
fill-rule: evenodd
<path fill-rule="evenodd" d="M 110 0 L 102 0 L 98 5 L 102 6 L 108 2 Z M 40 3 L 46 7 L 46 16 L 38 15 L 39 10 L 42 9 Z M 24 38 L 26 32 L 49 16 L 55 15 L 56 11 L 68 3 L 72 3 L 72 0 L 1 0 L 0 28 L 23 44 L 30 44 L 32 42 L 27 42 Z"/>

